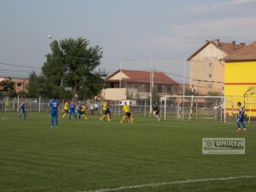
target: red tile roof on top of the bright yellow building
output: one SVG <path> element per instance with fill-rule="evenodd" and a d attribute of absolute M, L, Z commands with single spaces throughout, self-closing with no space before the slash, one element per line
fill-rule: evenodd
<path fill-rule="evenodd" d="M 224 61 L 256 61 L 256 41 L 225 56 Z"/>

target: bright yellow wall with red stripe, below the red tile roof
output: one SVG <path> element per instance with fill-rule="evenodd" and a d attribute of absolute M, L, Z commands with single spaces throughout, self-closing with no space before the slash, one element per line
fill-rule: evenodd
<path fill-rule="evenodd" d="M 247 90 L 254 86 L 249 92 Z M 247 96 L 244 99 L 244 94 Z M 226 98 L 226 111 L 231 114 L 232 105 L 237 113 L 236 102 L 245 100 L 246 114 L 256 117 L 256 61 L 226 62 L 224 74 L 224 96 Z M 251 104 L 253 103 L 253 104 Z"/>

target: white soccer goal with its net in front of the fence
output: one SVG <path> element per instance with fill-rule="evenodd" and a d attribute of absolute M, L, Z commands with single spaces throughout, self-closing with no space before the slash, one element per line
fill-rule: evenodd
<path fill-rule="evenodd" d="M 164 119 L 212 119 L 226 123 L 224 96 L 165 96 Z M 174 105 L 170 103 L 175 103 Z"/>

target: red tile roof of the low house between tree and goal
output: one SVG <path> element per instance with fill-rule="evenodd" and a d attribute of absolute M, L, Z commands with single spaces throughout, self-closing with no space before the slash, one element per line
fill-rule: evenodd
<path fill-rule="evenodd" d="M 119 73 L 120 70 L 111 74 L 106 79 L 106 82 L 113 82 L 113 79 L 110 79 L 116 73 Z M 122 79 L 125 82 L 133 82 L 133 83 L 150 83 L 150 72 L 145 71 L 134 71 L 134 70 L 126 70 L 122 69 L 122 73 L 125 73 L 130 79 Z M 173 79 L 169 78 L 165 73 L 162 72 L 155 72 L 154 73 L 154 83 L 155 84 L 178 84 Z"/>

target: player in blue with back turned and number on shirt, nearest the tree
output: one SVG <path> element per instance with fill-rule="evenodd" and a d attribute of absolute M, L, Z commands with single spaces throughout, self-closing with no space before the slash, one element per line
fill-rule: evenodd
<path fill-rule="evenodd" d="M 60 104 L 56 99 L 56 96 L 53 96 L 53 99 L 49 101 L 49 114 L 50 114 L 50 128 L 58 127 L 58 114 L 60 113 Z"/>

